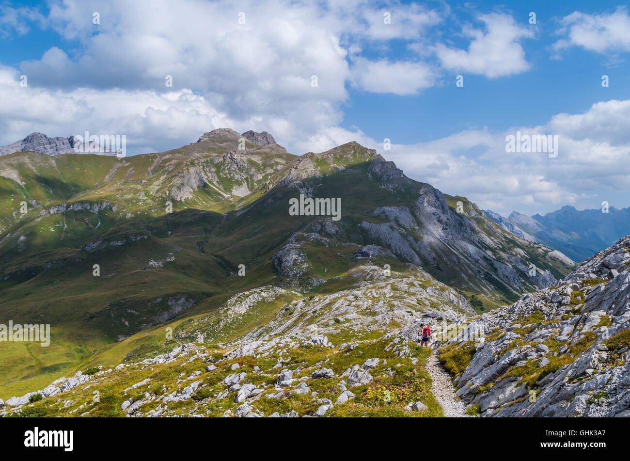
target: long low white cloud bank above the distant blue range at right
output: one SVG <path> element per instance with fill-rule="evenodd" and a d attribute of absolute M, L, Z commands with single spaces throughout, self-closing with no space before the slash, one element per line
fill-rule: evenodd
<path fill-rule="evenodd" d="M 319 140 L 324 141 L 321 150 L 357 140 L 396 162 L 410 178 L 504 215 L 513 210 L 548 212 L 563 205 L 598 208 L 602 200 L 622 208 L 630 181 L 630 118 L 619 120 L 612 137 L 599 119 L 616 118 L 627 105 L 630 100 L 604 101 L 585 113 L 555 115 L 537 127 L 464 130 L 429 142 L 392 144 L 391 151 L 360 130 L 335 128 Z M 558 135 L 558 157 L 507 153 L 505 137 L 517 130 Z"/>

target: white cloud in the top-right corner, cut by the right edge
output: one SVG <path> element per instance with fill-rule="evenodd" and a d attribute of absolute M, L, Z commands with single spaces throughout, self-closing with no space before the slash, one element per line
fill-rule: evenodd
<path fill-rule="evenodd" d="M 630 16 L 625 7 L 603 14 L 575 11 L 560 23 L 558 34 L 566 37 L 554 43 L 555 50 L 582 47 L 601 54 L 630 50 Z"/>

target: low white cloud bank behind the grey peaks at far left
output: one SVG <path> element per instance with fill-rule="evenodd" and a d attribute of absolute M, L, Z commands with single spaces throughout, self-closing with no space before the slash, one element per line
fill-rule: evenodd
<path fill-rule="evenodd" d="M 164 146 L 180 147 L 215 127 L 249 126 L 233 120 L 190 89 L 169 93 L 151 90 L 88 88 L 74 91 L 20 86 L 19 75 L 0 67 L 0 125 L 2 144 L 14 133 L 37 130 L 49 135 L 126 135 L 130 154 L 159 152 Z"/>

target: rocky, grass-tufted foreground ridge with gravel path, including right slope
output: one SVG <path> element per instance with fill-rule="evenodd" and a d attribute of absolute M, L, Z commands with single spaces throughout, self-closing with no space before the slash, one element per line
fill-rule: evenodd
<path fill-rule="evenodd" d="M 246 290 L 180 322 L 163 351 L 141 346 L 118 364 L 98 356 L 0 399 L 0 416 L 624 417 L 629 267 L 627 236 L 557 286 L 481 316 L 420 269 L 362 265 L 355 287 L 307 297 Z M 433 350 L 419 344 L 423 325 Z M 226 331 L 238 334 L 215 342 Z"/>

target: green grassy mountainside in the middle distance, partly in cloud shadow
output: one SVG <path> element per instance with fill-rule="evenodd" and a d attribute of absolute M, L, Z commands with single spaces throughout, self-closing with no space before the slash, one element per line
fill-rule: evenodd
<path fill-rule="evenodd" d="M 238 139 L 228 133 L 125 159 L 33 152 L 0 157 L 0 323 L 49 323 L 53 332 L 50 348 L 0 345 L 3 364 L 20 362 L 0 365 L 0 396 L 20 394 L 77 367 L 115 363 L 142 348 L 159 350 L 166 326 L 178 331 L 185 322 L 214 315 L 233 293 L 264 285 L 334 293 L 355 285 L 351 274 L 358 263 L 352 254 L 370 244 L 358 225 L 386 222 L 374 215 L 379 207 L 413 208 L 425 186 L 399 178 L 385 187 L 370 171 L 375 155 L 356 143 L 302 157 L 277 145 L 249 143 L 239 153 Z M 301 193 L 292 181 L 316 196 L 342 198 L 339 236 L 301 237 L 323 218 L 289 215 L 289 199 Z M 243 185 L 247 195 L 233 193 Z M 449 206 L 454 199 L 447 196 Z M 25 214 L 19 213 L 23 200 L 29 203 Z M 536 256 L 536 249 L 487 219 L 461 219 L 476 220 L 480 232 L 506 252 L 518 248 Z M 301 278 L 321 280 L 316 287 L 284 280 L 273 264 L 273 255 L 294 234 L 308 263 Z M 422 238 L 421 231 L 408 236 Z M 372 261 L 392 270 L 403 270 L 405 262 L 395 256 Z M 554 275 L 568 272 L 543 258 L 538 263 Z M 472 273 L 462 277 L 449 264 L 437 268 L 427 260 L 423 268 L 468 297 L 479 294 L 484 281 Z M 93 275 L 94 265 L 100 276 Z M 238 275 L 239 265 L 246 266 L 245 276 Z M 488 308 L 503 302 L 500 289 L 486 291 L 480 296 Z M 280 305 L 270 302 L 234 331 L 247 333 Z M 221 333 L 216 339 L 231 337 Z"/>

